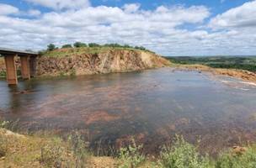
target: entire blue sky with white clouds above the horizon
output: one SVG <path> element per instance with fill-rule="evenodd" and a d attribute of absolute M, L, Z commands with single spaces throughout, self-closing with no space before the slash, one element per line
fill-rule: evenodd
<path fill-rule="evenodd" d="M 256 55 L 256 0 L 0 0 L 0 47 L 75 41 L 162 55 Z"/>

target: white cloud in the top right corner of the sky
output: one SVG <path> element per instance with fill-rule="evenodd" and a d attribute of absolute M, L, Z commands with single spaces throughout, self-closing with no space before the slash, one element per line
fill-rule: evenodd
<path fill-rule="evenodd" d="M 211 19 L 209 26 L 213 29 L 256 27 L 256 1 L 218 14 L 216 18 Z"/>

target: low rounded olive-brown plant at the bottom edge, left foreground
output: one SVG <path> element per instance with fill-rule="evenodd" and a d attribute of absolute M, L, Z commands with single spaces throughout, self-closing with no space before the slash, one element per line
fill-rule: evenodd
<path fill-rule="evenodd" d="M 41 148 L 39 159 L 42 165 L 47 167 L 61 167 L 63 159 L 63 148 L 54 144 L 47 144 Z"/>

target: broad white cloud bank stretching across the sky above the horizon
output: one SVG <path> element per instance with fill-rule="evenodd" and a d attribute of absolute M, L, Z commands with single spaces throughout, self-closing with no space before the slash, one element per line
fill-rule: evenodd
<path fill-rule="evenodd" d="M 61 6 L 57 4 L 51 8 L 61 9 Z M 26 13 L 37 17 L 0 16 L 0 46 L 41 50 L 49 43 L 63 45 L 83 41 L 144 45 L 163 55 L 246 55 L 256 52 L 254 27 L 228 26 L 227 29 L 212 24 L 216 17 L 209 25 L 221 29 L 209 30 L 205 18 L 211 13 L 205 6 L 159 6 L 143 10 L 138 4 L 126 4 L 122 8 L 98 6 Z M 237 19 L 240 17 L 232 18 L 232 23 Z M 193 29 L 185 29 L 187 26 Z"/>

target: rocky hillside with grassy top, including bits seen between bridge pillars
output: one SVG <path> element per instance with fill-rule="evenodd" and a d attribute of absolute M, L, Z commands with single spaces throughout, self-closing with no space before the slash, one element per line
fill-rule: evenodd
<path fill-rule="evenodd" d="M 79 76 L 141 71 L 168 65 L 168 60 L 149 50 L 118 47 L 67 48 L 42 53 L 37 61 L 37 76 Z M 16 66 L 19 72 L 18 57 Z M 3 58 L 0 58 L 0 76 L 5 76 Z"/>

